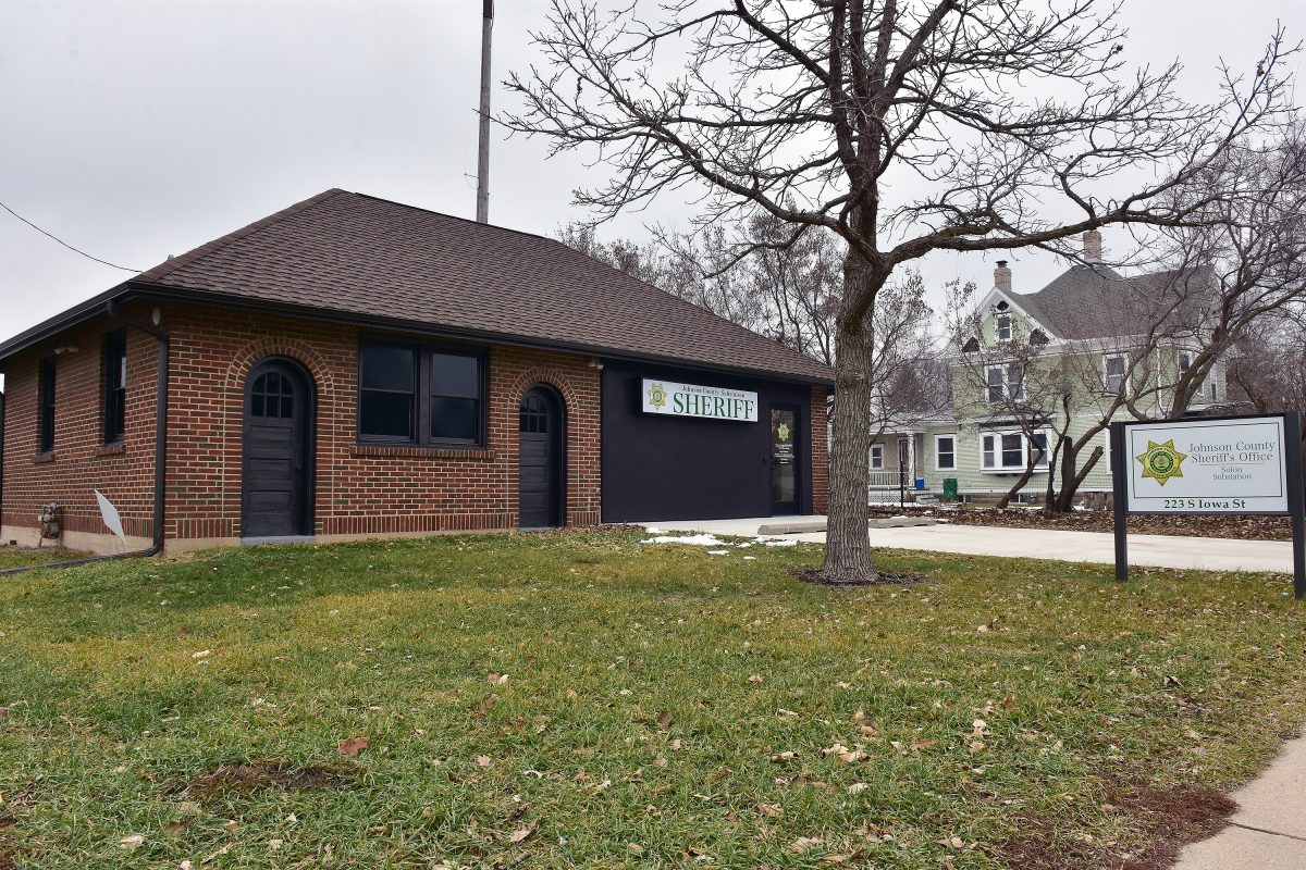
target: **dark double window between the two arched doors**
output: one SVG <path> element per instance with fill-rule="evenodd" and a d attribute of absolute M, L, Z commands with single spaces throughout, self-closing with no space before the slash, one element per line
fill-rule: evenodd
<path fill-rule="evenodd" d="M 359 348 L 358 437 L 421 446 L 483 442 L 483 355 L 366 342 Z"/>

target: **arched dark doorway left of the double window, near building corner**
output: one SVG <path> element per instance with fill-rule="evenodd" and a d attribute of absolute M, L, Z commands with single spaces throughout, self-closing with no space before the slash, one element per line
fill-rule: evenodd
<path fill-rule="evenodd" d="M 246 378 L 242 537 L 303 537 L 312 530 L 312 377 L 268 359 Z"/>

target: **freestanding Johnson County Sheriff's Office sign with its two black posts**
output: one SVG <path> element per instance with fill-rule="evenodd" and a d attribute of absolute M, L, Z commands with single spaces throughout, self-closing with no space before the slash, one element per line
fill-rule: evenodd
<path fill-rule="evenodd" d="M 1128 514 L 1293 518 L 1293 590 L 1306 597 L 1301 423 L 1296 412 L 1111 424 L 1115 577 L 1128 579 Z"/>

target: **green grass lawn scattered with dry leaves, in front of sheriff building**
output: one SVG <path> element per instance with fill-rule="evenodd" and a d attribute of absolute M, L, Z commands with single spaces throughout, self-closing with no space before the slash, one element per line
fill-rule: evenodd
<path fill-rule="evenodd" d="M 0 867 L 1157 866 L 1306 723 L 1284 578 L 639 539 L 4 578 Z"/>

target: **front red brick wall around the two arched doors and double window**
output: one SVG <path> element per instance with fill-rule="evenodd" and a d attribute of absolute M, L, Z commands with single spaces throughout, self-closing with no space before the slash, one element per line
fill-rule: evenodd
<path fill-rule="evenodd" d="M 567 522 L 599 520 L 598 372 L 573 353 L 490 346 L 485 450 L 360 446 L 358 338 L 351 326 L 174 308 L 168 537 L 240 535 L 246 376 L 289 356 L 317 390 L 315 532 L 380 535 L 513 528 L 517 524 L 517 410 L 535 383 L 567 404 Z M 372 334 L 372 333 L 368 333 Z"/>

